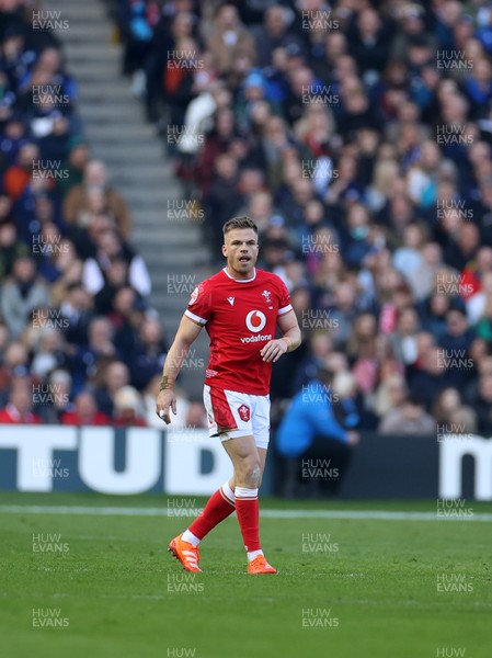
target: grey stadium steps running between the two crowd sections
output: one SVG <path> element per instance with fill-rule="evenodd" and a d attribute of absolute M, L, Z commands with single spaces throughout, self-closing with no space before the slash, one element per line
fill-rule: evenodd
<path fill-rule="evenodd" d="M 122 47 L 112 41 L 114 24 L 104 2 L 44 0 L 43 9 L 59 11 L 68 21 L 68 29 L 56 34 L 64 44 L 67 69 L 78 84 L 84 136 L 130 207 L 131 242 L 149 269 L 151 304 L 169 343 L 190 298 L 190 284 L 180 286 L 179 282 L 190 281 L 186 276 L 192 275 L 198 283 L 211 273 L 206 268 L 208 249 L 199 225 L 168 222 L 168 203 L 181 200 L 182 189 L 167 161 L 162 139 L 155 126 L 146 123 L 141 102 L 131 95 L 129 80 L 122 76 Z M 196 358 L 206 359 L 206 344 L 201 336 L 193 345 Z M 184 367 L 180 379 L 188 395 L 201 396 L 203 379 L 193 368 Z"/>

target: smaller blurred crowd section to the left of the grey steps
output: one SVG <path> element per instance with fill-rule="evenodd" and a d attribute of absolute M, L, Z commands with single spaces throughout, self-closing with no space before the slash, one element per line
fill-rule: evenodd
<path fill-rule="evenodd" d="M 0 2 L 0 422 L 161 423 L 149 273 L 39 9 Z"/>

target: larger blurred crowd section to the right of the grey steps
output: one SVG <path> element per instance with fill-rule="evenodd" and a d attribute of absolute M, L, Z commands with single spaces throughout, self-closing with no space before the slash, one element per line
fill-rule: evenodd
<path fill-rule="evenodd" d="M 361 428 L 490 435 L 490 2 L 117 7 L 123 71 L 213 251 L 248 214 L 290 291 L 305 344 L 276 408 L 327 368 Z"/>

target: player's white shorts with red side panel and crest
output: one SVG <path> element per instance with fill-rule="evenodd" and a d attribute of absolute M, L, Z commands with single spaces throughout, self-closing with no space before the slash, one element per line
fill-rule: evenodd
<path fill-rule="evenodd" d="M 204 405 L 210 436 L 220 441 L 253 436 L 256 447 L 268 447 L 270 396 L 204 386 Z"/>

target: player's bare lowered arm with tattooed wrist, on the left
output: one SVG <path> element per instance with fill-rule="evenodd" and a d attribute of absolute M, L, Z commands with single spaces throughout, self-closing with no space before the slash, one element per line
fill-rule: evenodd
<path fill-rule="evenodd" d="M 174 342 L 169 349 L 165 358 L 159 395 L 156 400 L 156 413 L 159 418 L 162 418 L 165 424 L 171 422 L 170 408 L 174 416 L 176 415 L 176 396 L 173 388 L 174 382 L 180 374 L 190 345 L 196 340 L 201 330 L 202 325 L 183 316 L 176 336 L 174 337 Z"/>

